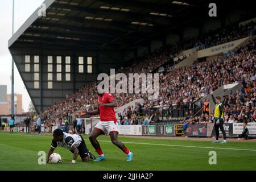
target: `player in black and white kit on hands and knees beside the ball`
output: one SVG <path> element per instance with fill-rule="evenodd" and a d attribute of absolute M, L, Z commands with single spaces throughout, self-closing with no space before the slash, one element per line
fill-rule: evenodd
<path fill-rule="evenodd" d="M 96 159 L 86 147 L 85 141 L 81 135 L 72 135 L 63 132 L 61 129 L 56 129 L 53 131 L 53 139 L 48 152 L 47 163 L 49 162 L 49 156 L 51 156 L 57 146 L 67 148 L 74 154 L 71 162 L 73 164 L 76 163 L 78 155 L 81 156 L 83 162 L 88 162 L 89 159 Z"/>

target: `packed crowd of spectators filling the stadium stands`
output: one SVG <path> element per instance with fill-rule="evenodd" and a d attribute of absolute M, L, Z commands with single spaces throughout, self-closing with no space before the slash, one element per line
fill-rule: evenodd
<path fill-rule="evenodd" d="M 227 27 L 218 30 L 214 35 L 202 35 L 200 38 L 187 40 L 177 46 L 165 46 L 152 53 L 146 53 L 136 60 L 127 61 L 116 73 L 150 73 L 160 65 L 170 61 L 183 49 L 192 48 L 195 42 L 214 46 L 224 42 L 240 39 L 254 34 L 245 27 Z M 135 99 L 143 98 L 144 103 L 136 108 L 127 108 L 122 118 L 122 125 L 131 125 L 150 122 L 158 122 L 162 110 L 192 109 L 193 103 L 199 98 L 207 96 L 221 85 L 234 82 L 242 82 L 242 89 L 237 90 L 226 98 L 225 121 L 236 122 L 246 119 L 248 122 L 255 119 L 255 40 L 247 46 L 237 49 L 237 53 L 226 56 L 224 59 L 202 61 L 191 66 L 167 69 L 159 74 L 159 97 L 157 100 L 148 100 L 148 94 L 114 94 L 118 106 L 125 105 Z M 68 95 L 64 100 L 57 101 L 42 111 L 41 117 L 46 125 L 57 123 L 60 118 L 68 117 L 77 110 L 89 106 L 89 110 L 97 108 L 97 94 L 94 83 L 86 84 L 76 93 Z M 247 101 L 249 104 L 246 104 Z M 137 111 L 137 106 L 140 111 Z M 156 112 L 155 106 L 160 106 Z M 239 114 L 232 113 L 236 110 Z M 249 111 L 248 111 L 249 110 Z M 250 114 L 249 114 L 250 113 Z M 249 114 L 249 115 L 247 115 Z M 142 118 L 143 116 L 143 118 Z M 241 117 L 241 118 L 240 118 Z M 208 122 L 210 115 L 202 117 L 189 117 L 190 122 Z"/>

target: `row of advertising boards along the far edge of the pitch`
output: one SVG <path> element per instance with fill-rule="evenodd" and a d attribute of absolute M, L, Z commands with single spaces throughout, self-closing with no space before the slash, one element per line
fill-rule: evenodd
<path fill-rule="evenodd" d="M 243 123 L 224 123 L 224 130 L 226 131 L 227 138 L 236 138 L 242 134 Z M 249 137 L 256 137 L 256 123 L 247 123 L 249 130 Z M 42 127 L 43 133 L 52 133 L 58 126 Z M 71 127 L 69 128 L 72 129 Z M 143 135 L 143 136 L 179 136 L 183 135 L 183 124 L 173 123 L 166 124 L 160 123 L 159 125 L 119 125 L 120 135 Z M 9 132 L 10 127 L 1 127 L 2 131 Z M 14 132 L 26 133 L 26 127 L 14 127 Z M 31 131 L 37 132 L 37 131 Z M 207 124 L 194 124 L 188 125 L 187 137 L 214 137 L 216 136 L 213 123 Z M 222 133 L 220 132 L 220 137 Z"/>

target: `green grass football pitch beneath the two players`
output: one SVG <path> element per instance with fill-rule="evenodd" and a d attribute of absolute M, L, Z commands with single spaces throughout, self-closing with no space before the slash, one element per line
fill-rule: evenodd
<path fill-rule="evenodd" d="M 83 135 L 86 146 L 97 156 L 94 148 Z M 60 164 L 38 164 L 38 152 L 49 150 L 51 135 L 26 135 L 0 132 L 0 170 L 255 170 L 256 142 L 229 142 L 212 144 L 209 141 L 138 139 L 118 137 L 133 151 L 133 161 L 125 162 L 126 155 L 110 142 L 110 137 L 98 140 L 107 160 L 70 164 L 73 154 L 57 147 L 54 152 L 61 155 Z M 149 144 L 146 144 L 149 143 Z M 156 145 L 158 144 L 158 145 Z M 170 145 L 170 146 L 166 146 Z M 177 146 L 171 146 L 177 145 Z M 185 147 L 190 146 L 190 147 Z M 202 148 L 201 148 L 202 147 Z M 218 147 L 218 148 L 203 148 Z M 223 149 L 224 148 L 224 149 Z M 233 150 L 233 149 L 246 150 Z M 252 151 L 247 151 L 252 150 Z M 210 165 L 209 151 L 217 152 L 217 164 Z"/>

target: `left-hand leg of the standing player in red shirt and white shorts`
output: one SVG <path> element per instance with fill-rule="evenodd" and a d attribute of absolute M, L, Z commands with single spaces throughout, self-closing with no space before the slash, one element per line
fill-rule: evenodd
<path fill-rule="evenodd" d="M 101 129 L 100 124 L 99 125 L 97 124 L 93 128 L 92 133 L 90 133 L 90 136 L 89 136 L 90 143 L 92 143 L 93 148 L 95 148 L 95 151 L 98 154 L 98 158 L 94 160 L 95 162 L 106 159 L 104 153 L 101 150 L 100 143 L 98 143 L 98 140 L 97 140 L 97 137 L 100 136 L 101 134 L 104 134 L 104 131 L 103 129 Z"/>

